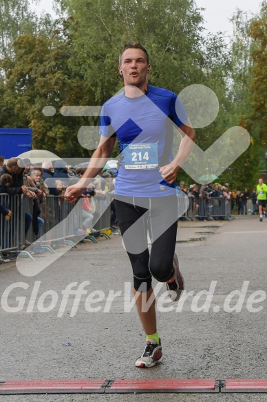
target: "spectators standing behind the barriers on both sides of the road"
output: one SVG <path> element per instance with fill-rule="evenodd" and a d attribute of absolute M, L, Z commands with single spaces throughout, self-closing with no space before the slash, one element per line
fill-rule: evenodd
<path fill-rule="evenodd" d="M 12 221 L 13 213 L 11 205 L 3 201 L 1 194 L 10 196 L 24 194 L 24 197 L 32 203 L 30 211 L 25 210 L 23 212 L 23 245 L 27 246 L 31 243 L 27 239 L 30 227 L 32 227 L 34 239 L 38 239 L 45 219 L 49 217 L 49 214 L 42 213 L 45 210 L 47 197 L 50 195 L 57 196 L 58 199 L 61 199 L 61 203 L 65 203 L 66 201 L 64 201 L 63 197 L 65 189 L 67 186 L 77 183 L 85 170 L 86 168 L 81 165 L 70 168 L 61 159 L 54 161 L 54 164 L 51 161 L 33 164 L 30 159 L 12 157 L 5 164 L 3 157 L 0 156 L 0 250 L 4 248 L 3 239 L 7 238 L 6 234 L 3 233 L 5 221 Z M 112 199 L 109 227 L 111 230 L 118 230 L 114 203 L 115 176 L 116 170 L 103 170 L 102 174 L 94 179 L 93 185 L 85 190 L 81 203 L 82 223 L 81 227 L 76 228 L 75 234 L 92 234 L 96 232 L 94 222 L 99 217 L 96 202 L 97 200 L 105 201 L 107 197 Z M 250 212 L 250 214 L 255 215 L 258 211 L 259 191 L 257 188 L 253 188 L 253 190 L 245 188 L 244 191 L 241 191 L 231 190 L 228 183 L 224 185 L 220 183 L 202 185 L 192 183 L 186 185 L 184 181 L 180 181 L 176 189 L 178 199 L 179 197 L 184 198 L 184 194 L 189 199 L 189 208 L 180 217 L 180 220 L 213 221 L 231 219 L 232 213 L 248 214 Z M 267 216 L 266 209 L 264 212 Z"/>

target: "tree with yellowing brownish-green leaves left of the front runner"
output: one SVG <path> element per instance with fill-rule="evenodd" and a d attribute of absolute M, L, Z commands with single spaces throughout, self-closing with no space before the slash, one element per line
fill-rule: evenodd
<path fill-rule="evenodd" d="M 34 148 L 44 148 L 68 157 L 88 155 L 77 139 L 84 117 L 64 117 L 64 105 L 86 104 L 90 94 L 85 81 L 70 71 L 70 43 L 58 30 L 52 39 L 23 35 L 13 44 L 14 55 L 1 63 L 6 74 L 3 103 L 10 111 L 8 127 L 30 127 Z M 0 87 L 1 90 L 1 87 Z M 52 106 L 54 116 L 43 108 Z"/>

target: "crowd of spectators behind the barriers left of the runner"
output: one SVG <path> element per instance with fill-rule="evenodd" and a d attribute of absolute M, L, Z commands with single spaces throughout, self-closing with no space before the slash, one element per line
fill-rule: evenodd
<path fill-rule="evenodd" d="M 41 228 L 47 217 L 52 214 L 45 214 L 47 196 L 57 196 L 60 203 L 64 201 L 64 193 L 67 186 L 77 183 L 83 176 L 86 168 L 78 165 L 76 168 L 70 168 L 65 161 L 56 160 L 54 165 L 51 161 L 32 164 L 30 159 L 19 159 L 12 157 L 4 164 L 3 157 L 0 157 L 0 250 L 3 249 L 3 239 L 7 239 L 3 232 L 4 221 L 12 221 L 12 207 L 7 198 L 1 197 L 1 194 L 9 196 L 27 197 L 31 200 L 31 208 L 23 212 L 24 240 L 23 245 L 28 246 L 32 242 L 27 239 L 30 227 L 34 234 L 34 239 L 38 239 Z M 105 201 L 107 197 L 114 196 L 114 178 L 113 171 L 103 170 L 103 173 L 94 179 L 90 186 L 82 195 L 81 203 L 81 227 L 76 228 L 74 234 L 93 234 L 96 230 L 93 228 L 93 219 L 96 221 L 99 213 L 96 211 L 96 201 Z M 10 200 L 10 198 L 9 198 Z M 28 205 L 30 205 L 28 203 Z M 21 205 L 19 207 L 21 210 Z M 109 227 L 111 230 L 118 230 L 116 225 L 116 211 L 114 201 L 111 201 L 111 219 Z M 14 226 L 14 225 L 13 225 Z M 32 239 L 32 236 L 30 236 Z M 6 241 L 5 244 L 7 244 Z"/>

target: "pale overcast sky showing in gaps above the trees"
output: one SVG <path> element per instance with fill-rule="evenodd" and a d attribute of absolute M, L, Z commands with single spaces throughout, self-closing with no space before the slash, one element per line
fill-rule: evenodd
<path fill-rule="evenodd" d="M 38 10 L 45 10 L 54 15 L 52 10 L 53 0 L 41 0 Z M 205 20 L 205 28 L 209 32 L 226 31 L 226 36 L 233 32 L 229 19 L 239 8 L 243 11 L 257 13 L 262 0 L 195 0 L 197 7 L 205 8 L 202 12 Z"/>

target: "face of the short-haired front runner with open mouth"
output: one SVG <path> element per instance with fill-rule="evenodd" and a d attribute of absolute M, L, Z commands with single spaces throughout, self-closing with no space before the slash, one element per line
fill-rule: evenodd
<path fill-rule="evenodd" d="M 147 86 L 149 68 L 142 49 L 127 49 L 122 53 L 119 70 L 122 72 L 125 86 L 132 85 L 140 89 Z"/>

